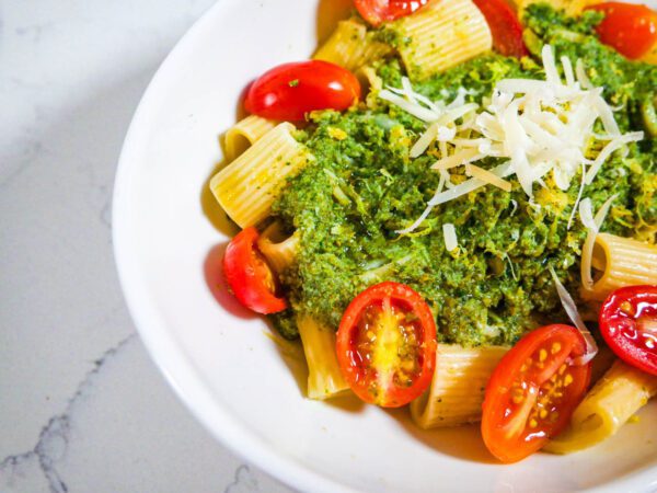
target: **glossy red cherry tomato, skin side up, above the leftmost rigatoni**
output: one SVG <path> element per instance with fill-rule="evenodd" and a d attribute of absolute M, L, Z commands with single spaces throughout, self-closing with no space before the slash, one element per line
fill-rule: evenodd
<path fill-rule="evenodd" d="M 348 108 L 360 98 L 360 83 L 347 69 L 322 60 L 284 64 L 265 72 L 246 93 L 249 113 L 296 122 L 314 110 Z"/>

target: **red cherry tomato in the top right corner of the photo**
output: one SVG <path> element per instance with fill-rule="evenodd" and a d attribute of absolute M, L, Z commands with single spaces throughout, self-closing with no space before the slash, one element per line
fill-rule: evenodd
<path fill-rule="evenodd" d="M 600 41 L 627 58 L 641 58 L 657 43 L 657 13 L 646 5 L 607 2 L 587 9 L 604 12 Z"/>

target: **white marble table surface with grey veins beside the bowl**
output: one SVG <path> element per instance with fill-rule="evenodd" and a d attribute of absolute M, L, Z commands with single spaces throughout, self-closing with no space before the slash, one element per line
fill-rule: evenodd
<path fill-rule="evenodd" d="M 112 254 L 120 146 L 214 0 L 0 0 L 0 492 L 287 492 L 149 359 Z"/>

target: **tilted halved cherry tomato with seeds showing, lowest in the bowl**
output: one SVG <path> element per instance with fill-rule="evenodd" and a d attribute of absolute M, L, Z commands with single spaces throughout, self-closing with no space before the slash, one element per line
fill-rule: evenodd
<path fill-rule="evenodd" d="M 517 462 L 568 424 L 591 376 L 590 363 L 573 364 L 585 352 L 577 329 L 554 324 L 530 332 L 502 358 L 482 415 L 484 443 L 495 457 Z"/>

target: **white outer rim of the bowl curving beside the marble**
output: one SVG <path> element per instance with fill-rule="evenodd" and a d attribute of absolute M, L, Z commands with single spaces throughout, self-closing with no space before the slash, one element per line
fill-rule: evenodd
<path fill-rule="evenodd" d="M 131 163 L 136 160 L 135 156 L 140 153 L 142 138 L 148 135 L 145 122 L 161 101 L 163 81 L 178 54 L 201 38 L 215 19 L 222 15 L 227 5 L 235 3 L 240 3 L 240 0 L 217 0 L 194 22 L 157 69 L 131 118 L 120 150 L 112 196 L 112 242 L 119 285 L 128 312 L 150 358 L 177 398 L 218 442 L 243 460 L 293 489 L 358 493 L 359 490 L 314 472 L 291 456 L 280 454 L 215 401 L 203 375 L 189 357 L 180 351 L 175 337 L 168 331 L 162 331 L 165 323 L 140 274 L 139 261 L 132 254 L 135 249 L 130 237 L 128 197 L 134 185 Z M 657 468 L 642 468 L 587 491 L 611 493 L 621 486 L 638 486 L 639 491 L 644 491 L 643 488 L 646 488 L 645 491 L 657 489 Z"/>

